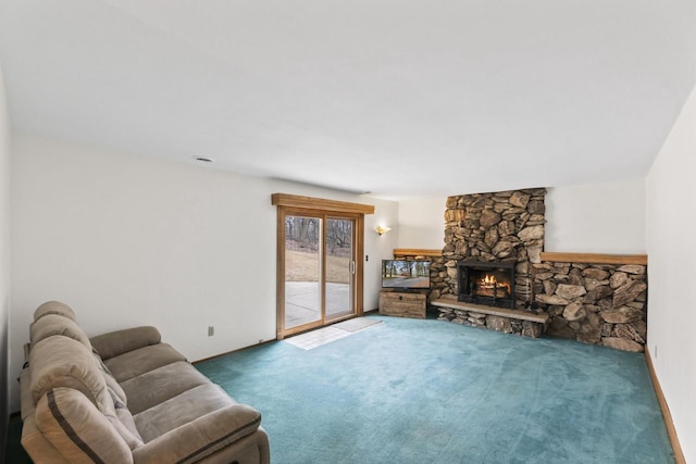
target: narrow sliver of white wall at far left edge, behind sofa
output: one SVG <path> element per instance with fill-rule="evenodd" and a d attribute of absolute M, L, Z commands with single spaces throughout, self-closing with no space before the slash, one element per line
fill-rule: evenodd
<path fill-rule="evenodd" d="M 10 325 L 10 117 L 0 63 L 0 385 L 8 385 Z M 11 377 L 10 377 L 11 378 Z M 0 398 L 0 462 L 4 462 L 8 389 Z"/>

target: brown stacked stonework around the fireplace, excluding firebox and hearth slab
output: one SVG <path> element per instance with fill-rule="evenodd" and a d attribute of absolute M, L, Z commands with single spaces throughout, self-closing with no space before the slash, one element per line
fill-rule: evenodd
<path fill-rule="evenodd" d="M 512 261 L 515 308 L 547 313 L 546 334 L 643 351 L 647 339 L 647 266 L 542 262 L 545 196 L 546 189 L 536 188 L 449 197 L 442 256 L 395 258 L 431 261 L 431 301 L 457 299 L 458 261 Z M 438 310 L 443 319 L 527 335 L 519 321 L 475 311 Z"/>

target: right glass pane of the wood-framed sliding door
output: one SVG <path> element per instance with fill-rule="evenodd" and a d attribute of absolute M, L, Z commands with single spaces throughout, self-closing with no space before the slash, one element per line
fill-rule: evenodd
<path fill-rule="evenodd" d="M 326 318 L 355 313 L 353 221 L 326 220 Z"/>

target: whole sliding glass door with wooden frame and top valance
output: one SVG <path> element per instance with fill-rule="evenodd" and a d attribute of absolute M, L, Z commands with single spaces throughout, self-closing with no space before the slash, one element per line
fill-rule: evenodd
<path fill-rule="evenodd" d="M 365 214 L 371 204 L 273 193 L 277 206 L 276 334 L 362 315 Z"/>

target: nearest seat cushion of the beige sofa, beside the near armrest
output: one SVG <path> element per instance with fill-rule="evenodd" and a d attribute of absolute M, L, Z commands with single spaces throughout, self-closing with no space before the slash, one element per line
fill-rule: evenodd
<path fill-rule="evenodd" d="M 188 424 L 206 414 L 237 404 L 215 384 L 187 390 L 148 410 L 134 414 L 140 437 L 150 440 Z"/>

